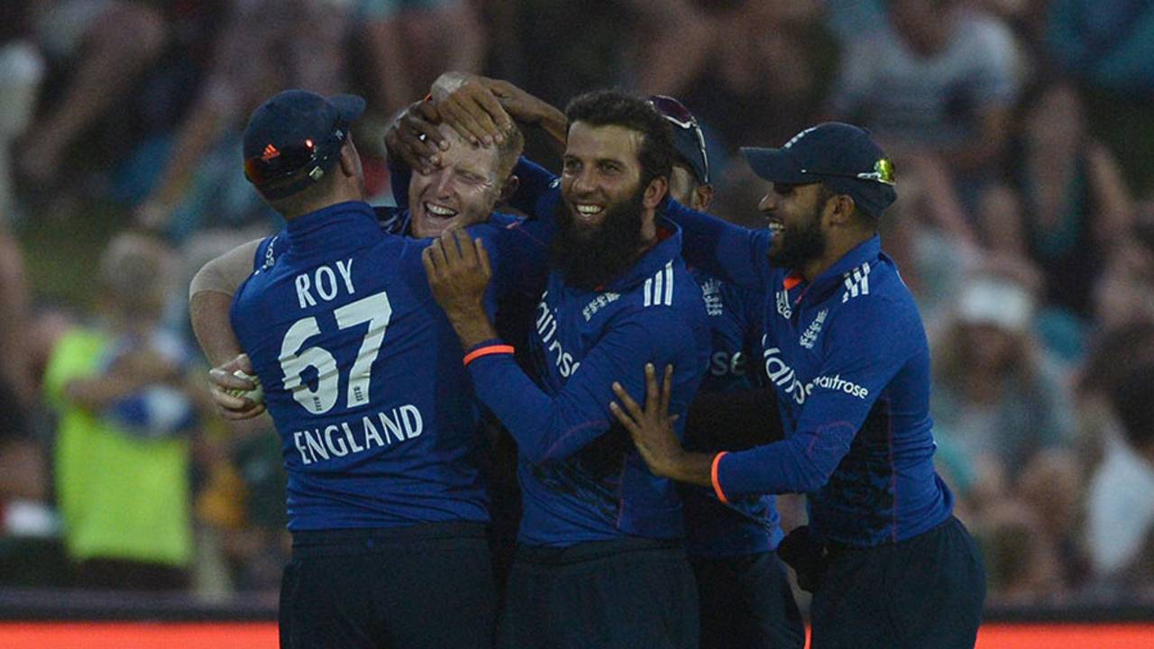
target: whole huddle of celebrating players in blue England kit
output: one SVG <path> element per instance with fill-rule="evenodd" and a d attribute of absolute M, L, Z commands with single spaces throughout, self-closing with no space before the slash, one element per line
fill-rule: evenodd
<path fill-rule="evenodd" d="M 288 90 L 253 113 L 245 174 L 285 227 L 189 290 L 222 413 L 280 435 L 282 647 L 797 648 L 786 564 L 816 649 L 974 646 L 983 568 L 934 470 L 867 132 L 743 149 L 767 181 L 748 230 L 706 214 L 705 140 L 669 97 L 561 112 L 443 75 L 385 137 L 390 208 L 365 202 L 364 107 Z M 807 495 L 788 536 L 781 493 Z"/>

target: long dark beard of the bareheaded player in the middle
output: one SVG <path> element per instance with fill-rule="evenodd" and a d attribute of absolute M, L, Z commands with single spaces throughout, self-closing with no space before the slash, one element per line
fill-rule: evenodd
<path fill-rule="evenodd" d="M 595 229 L 577 224 L 569 203 L 557 202 L 557 233 L 549 245 L 549 262 L 564 276 L 565 284 L 593 291 L 634 264 L 642 245 L 644 197 L 644 189 L 638 189 L 625 201 L 607 207 Z"/>

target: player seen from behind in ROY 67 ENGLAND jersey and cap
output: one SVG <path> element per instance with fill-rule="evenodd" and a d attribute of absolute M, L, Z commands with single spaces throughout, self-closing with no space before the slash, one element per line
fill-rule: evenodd
<path fill-rule="evenodd" d="M 382 231 L 364 202 L 349 133 L 362 110 L 359 97 L 290 90 L 243 135 L 247 178 L 287 222 L 231 309 L 288 473 L 282 646 L 487 648 L 495 599 L 473 390 L 425 278 L 429 240 Z M 493 252 L 495 286 L 524 275 L 502 260 L 532 258 L 505 251 L 534 239 L 473 233 Z"/>

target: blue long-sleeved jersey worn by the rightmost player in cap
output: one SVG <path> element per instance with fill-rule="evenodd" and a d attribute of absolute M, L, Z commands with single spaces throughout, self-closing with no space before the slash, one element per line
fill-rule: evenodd
<path fill-rule="evenodd" d="M 673 204 L 685 258 L 764 291 L 762 363 L 786 439 L 724 455 L 715 491 L 808 494 L 819 538 L 865 547 L 950 516 L 934 470 L 930 358 L 913 296 L 874 237 L 812 283 L 767 262 L 771 233 Z"/>

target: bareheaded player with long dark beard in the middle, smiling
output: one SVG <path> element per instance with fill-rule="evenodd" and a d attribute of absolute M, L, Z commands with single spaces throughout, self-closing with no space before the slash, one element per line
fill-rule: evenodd
<path fill-rule="evenodd" d="M 515 203 L 556 227 L 533 376 L 482 308 L 485 248 L 442 238 L 425 254 L 478 397 L 518 443 L 524 514 L 499 646 L 696 647 L 676 490 L 650 473 L 608 409 L 612 376 L 636 376 L 640 395 L 639 368 L 664 359 L 679 367 L 670 406 L 684 412 L 707 360 L 700 289 L 661 217 L 670 133 L 652 105 L 620 92 L 577 97 L 567 117 L 561 177 Z"/>

